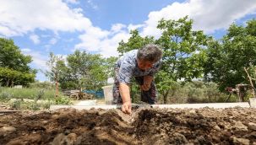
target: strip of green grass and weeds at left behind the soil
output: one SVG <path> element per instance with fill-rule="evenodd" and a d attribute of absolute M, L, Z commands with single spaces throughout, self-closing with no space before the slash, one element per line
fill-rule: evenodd
<path fill-rule="evenodd" d="M 25 99 L 32 99 L 28 102 Z M 38 101 L 44 100 L 44 101 Z M 0 102 L 10 105 L 16 110 L 44 110 L 49 109 L 50 105 L 70 105 L 72 99 L 59 92 L 55 97 L 54 89 L 36 89 L 36 88 L 0 88 Z"/>

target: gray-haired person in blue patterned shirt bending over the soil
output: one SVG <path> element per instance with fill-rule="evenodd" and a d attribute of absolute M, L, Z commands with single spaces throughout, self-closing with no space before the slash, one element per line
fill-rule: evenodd
<path fill-rule="evenodd" d="M 141 101 L 150 105 L 156 102 L 154 74 L 161 66 L 162 51 L 159 46 L 147 45 L 139 50 L 128 51 L 115 64 L 113 103 L 123 104 L 123 113 L 131 113 L 130 87 L 132 78 L 139 83 Z"/>

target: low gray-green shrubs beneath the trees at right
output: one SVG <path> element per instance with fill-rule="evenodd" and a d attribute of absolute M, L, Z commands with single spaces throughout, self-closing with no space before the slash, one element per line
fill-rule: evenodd
<path fill-rule="evenodd" d="M 162 95 L 159 96 L 159 103 L 164 103 Z M 218 89 L 216 83 L 204 83 L 201 81 L 193 82 L 177 82 L 176 89 L 170 90 L 166 103 L 182 104 L 182 103 L 215 103 L 226 102 L 228 94 L 223 94 Z M 237 95 L 231 95 L 229 102 L 237 102 Z"/>

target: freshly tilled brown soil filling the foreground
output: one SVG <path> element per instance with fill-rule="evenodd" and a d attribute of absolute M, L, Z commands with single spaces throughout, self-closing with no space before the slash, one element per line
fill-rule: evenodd
<path fill-rule="evenodd" d="M 0 115 L 0 144 L 256 144 L 256 109 L 134 109 Z"/>

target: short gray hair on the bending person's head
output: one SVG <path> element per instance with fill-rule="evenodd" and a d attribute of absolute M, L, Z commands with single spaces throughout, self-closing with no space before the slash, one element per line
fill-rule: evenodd
<path fill-rule="evenodd" d="M 137 58 L 143 61 L 158 62 L 162 57 L 160 46 L 149 44 L 139 49 Z"/>

